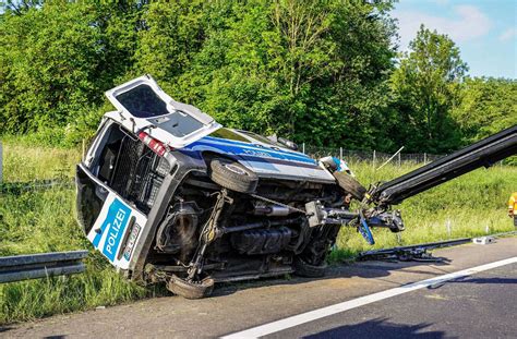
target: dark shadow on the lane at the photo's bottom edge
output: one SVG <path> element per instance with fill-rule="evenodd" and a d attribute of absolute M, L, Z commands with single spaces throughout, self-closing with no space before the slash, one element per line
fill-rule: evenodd
<path fill-rule="evenodd" d="M 303 338 L 446 338 L 444 331 L 419 332 L 432 324 L 404 325 L 389 323 L 387 318 L 376 318 L 354 325 L 332 328 Z"/>

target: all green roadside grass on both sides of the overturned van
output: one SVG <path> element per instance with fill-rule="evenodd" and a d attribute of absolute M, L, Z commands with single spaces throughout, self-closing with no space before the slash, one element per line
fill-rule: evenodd
<path fill-rule="evenodd" d="M 4 141 L 5 181 L 20 182 L 56 177 L 72 177 L 80 159 L 79 149 L 37 147 Z M 363 183 L 389 180 L 416 166 L 386 166 L 373 171 L 370 164 L 351 164 Z M 407 230 L 402 244 L 508 231 L 506 201 L 517 178 L 515 167 L 477 170 L 441 187 L 412 197 L 398 206 Z M 69 251 L 92 246 L 75 223 L 74 190 L 0 194 L 0 255 Z M 360 251 L 398 245 L 394 233 L 374 230 L 376 244 L 370 246 L 356 230 L 344 228 L 332 259 L 349 257 Z M 98 254 L 92 252 L 84 274 L 0 284 L 0 324 L 27 320 L 51 314 L 113 305 L 163 294 L 125 281 Z"/>

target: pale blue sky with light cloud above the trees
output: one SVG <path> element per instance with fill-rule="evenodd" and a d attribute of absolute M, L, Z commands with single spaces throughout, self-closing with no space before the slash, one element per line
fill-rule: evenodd
<path fill-rule="evenodd" d="M 456 43 L 471 76 L 517 78 L 517 0 L 399 0 L 392 15 L 400 50 L 423 23 Z"/>

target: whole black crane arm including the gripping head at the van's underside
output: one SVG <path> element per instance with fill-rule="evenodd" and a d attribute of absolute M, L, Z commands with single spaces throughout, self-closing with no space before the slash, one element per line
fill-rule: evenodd
<path fill-rule="evenodd" d="M 357 211 L 344 208 L 326 208 L 320 202 L 305 204 L 310 227 L 341 225 L 357 227 L 363 238 L 373 244 L 370 227 L 386 227 L 393 232 L 404 230 L 399 210 L 390 205 L 437 186 L 480 167 L 490 167 L 517 154 L 517 125 L 486 137 L 476 144 L 423 166 L 412 172 L 380 185 L 372 185 Z M 371 206 L 373 204 L 374 206 Z"/>

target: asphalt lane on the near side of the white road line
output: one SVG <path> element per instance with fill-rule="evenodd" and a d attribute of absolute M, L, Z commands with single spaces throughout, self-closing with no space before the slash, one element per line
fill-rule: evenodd
<path fill-rule="evenodd" d="M 516 338 L 517 264 L 407 293 L 266 338 Z"/>

